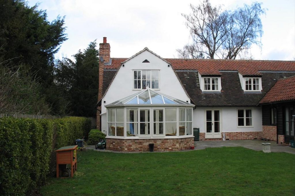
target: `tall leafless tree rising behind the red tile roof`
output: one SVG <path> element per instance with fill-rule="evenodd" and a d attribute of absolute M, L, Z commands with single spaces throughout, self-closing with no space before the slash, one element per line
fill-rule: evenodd
<path fill-rule="evenodd" d="M 209 0 L 190 7 L 192 13 L 182 16 L 190 29 L 193 44 L 178 49 L 179 57 L 200 58 L 199 54 L 205 54 L 207 58 L 235 59 L 253 43 L 260 45 L 257 40 L 263 33 L 260 15 L 265 13 L 261 3 L 244 5 L 234 11 L 223 11 L 220 5 L 212 6 Z"/>

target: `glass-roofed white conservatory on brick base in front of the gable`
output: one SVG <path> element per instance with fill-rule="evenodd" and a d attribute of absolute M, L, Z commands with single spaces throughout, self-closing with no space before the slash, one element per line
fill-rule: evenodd
<path fill-rule="evenodd" d="M 191 103 L 145 89 L 105 106 L 107 149 L 147 151 L 186 150 L 193 145 Z"/>

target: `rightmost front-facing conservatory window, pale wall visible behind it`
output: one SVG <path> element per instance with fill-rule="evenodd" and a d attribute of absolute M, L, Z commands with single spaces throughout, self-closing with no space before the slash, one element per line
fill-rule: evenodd
<path fill-rule="evenodd" d="M 165 109 L 165 131 L 166 136 L 176 135 L 176 108 Z"/>

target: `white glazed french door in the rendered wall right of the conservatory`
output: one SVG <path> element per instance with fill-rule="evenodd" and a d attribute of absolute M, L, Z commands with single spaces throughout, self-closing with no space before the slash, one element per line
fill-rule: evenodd
<path fill-rule="evenodd" d="M 205 138 L 221 138 L 220 110 L 205 110 Z"/>

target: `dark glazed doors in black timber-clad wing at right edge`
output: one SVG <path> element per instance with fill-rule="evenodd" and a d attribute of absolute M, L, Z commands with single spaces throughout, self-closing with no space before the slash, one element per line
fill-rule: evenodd
<path fill-rule="evenodd" d="M 295 110 L 294 107 L 285 108 L 285 142 L 294 140 L 294 127 L 295 127 Z"/>

